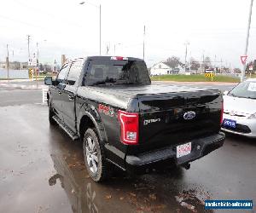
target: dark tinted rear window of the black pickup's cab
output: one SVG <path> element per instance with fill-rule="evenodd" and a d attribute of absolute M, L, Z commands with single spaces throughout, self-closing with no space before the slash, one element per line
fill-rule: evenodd
<path fill-rule="evenodd" d="M 87 85 L 101 84 L 150 84 L 148 69 L 143 61 L 90 60 L 86 75 Z"/>

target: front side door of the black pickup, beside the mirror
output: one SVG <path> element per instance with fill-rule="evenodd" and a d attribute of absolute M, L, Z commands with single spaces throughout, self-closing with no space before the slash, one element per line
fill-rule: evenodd
<path fill-rule="evenodd" d="M 52 107 L 55 109 L 58 117 L 63 119 L 62 117 L 62 93 L 63 89 L 65 88 L 65 79 L 67 78 L 67 73 L 69 71 L 70 64 L 65 64 L 62 66 L 61 71 L 59 72 L 56 78 L 55 87 L 51 89 L 51 104 Z"/>

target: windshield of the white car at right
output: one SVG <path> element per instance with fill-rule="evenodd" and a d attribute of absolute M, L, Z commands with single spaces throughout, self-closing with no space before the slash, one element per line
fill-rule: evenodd
<path fill-rule="evenodd" d="M 229 95 L 240 98 L 256 99 L 256 82 L 239 83 L 230 91 Z"/>

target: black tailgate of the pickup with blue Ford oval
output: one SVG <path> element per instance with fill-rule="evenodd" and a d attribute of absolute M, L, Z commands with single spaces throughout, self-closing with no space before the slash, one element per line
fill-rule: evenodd
<path fill-rule="evenodd" d="M 129 147 L 128 153 L 143 153 L 171 145 L 176 147 L 220 130 L 223 100 L 218 90 L 137 95 L 137 99 L 140 109 L 139 145 Z"/>

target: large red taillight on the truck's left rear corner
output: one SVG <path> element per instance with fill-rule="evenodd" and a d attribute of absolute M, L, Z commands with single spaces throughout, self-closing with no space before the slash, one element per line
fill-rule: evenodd
<path fill-rule="evenodd" d="M 138 113 L 119 110 L 121 141 L 124 144 L 138 143 Z"/>

